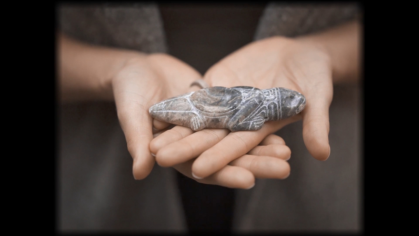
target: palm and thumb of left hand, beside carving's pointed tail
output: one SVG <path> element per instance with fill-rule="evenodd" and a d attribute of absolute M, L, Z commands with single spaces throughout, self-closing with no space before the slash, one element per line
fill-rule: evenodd
<path fill-rule="evenodd" d="M 155 163 L 149 149 L 153 119 L 148 108 L 186 92 L 188 85 L 201 77 L 191 66 L 163 53 L 137 54 L 112 77 L 116 110 L 133 158 L 135 179 L 148 176 Z"/>

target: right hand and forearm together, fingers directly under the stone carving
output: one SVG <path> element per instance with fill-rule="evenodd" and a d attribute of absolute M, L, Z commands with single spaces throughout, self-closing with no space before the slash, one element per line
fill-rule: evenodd
<path fill-rule="evenodd" d="M 355 82 L 359 78 L 359 31 L 360 24 L 352 22 L 295 39 L 271 37 L 252 42 L 220 60 L 204 75 L 209 86 L 285 87 L 305 95 L 305 109 L 288 121 L 266 122 L 258 131 L 205 134 L 205 130 L 184 130 L 182 138 L 163 133 L 150 144 L 157 162 L 171 166 L 194 159 L 192 173 L 196 178 L 205 178 L 235 163 L 264 137 L 298 119 L 303 119 L 303 139 L 310 154 L 326 160 L 331 151 L 328 108 L 333 83 Z"/>

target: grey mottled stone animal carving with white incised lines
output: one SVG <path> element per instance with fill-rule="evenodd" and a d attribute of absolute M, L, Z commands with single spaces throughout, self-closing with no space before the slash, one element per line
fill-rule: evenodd
<path fill-rule="evenodd" d="M 158 102 L 150 115 L 159 120 L 191 128 L 258 130 L 265 121 L 278 121 L 300 113 L 305 97 L 285 89 L 254 87 L 209 87 Z"/>

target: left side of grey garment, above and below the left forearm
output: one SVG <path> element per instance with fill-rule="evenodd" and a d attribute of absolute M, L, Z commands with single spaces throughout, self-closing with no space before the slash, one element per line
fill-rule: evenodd
<path fill-rule="evenodd" d="M 59 30 L 94 45 L 166 52 L 158 6 L 60 5 Z M 132 157 L 112 102 L 59 107 L 59 199 L 62 231 L 186 232 L 176 173 L 155 165 L 142 181 L 132 177 Z"/>

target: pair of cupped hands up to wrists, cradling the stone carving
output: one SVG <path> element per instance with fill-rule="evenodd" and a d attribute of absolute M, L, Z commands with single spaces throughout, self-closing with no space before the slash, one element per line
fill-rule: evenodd
<path fill-rule="evenodd" d="M 204 79 L 210 87 L 285 87 L 304 94 L 306 106 L 300 114 L 266 122 L 257 131 L 167 129 L 168 123 L 150 117 L 148 109 L 156 102 L 200 89 L 190 87 L 197 79 Z M 292 151 L 274 133 L 301 119 L 310 154 L 317 160 L 326 160 L 330 154 L 331 61 L 326 50 L 306 40 L 270 37 L 252 42 L 203 76 L 171 55 L 139 53 L 116 73 L 112 89 L 135 179 L 147 177 L 155 162 L 200 183 L 229 188 L 249 189 L 255 178 L 287 178 Z"/>

